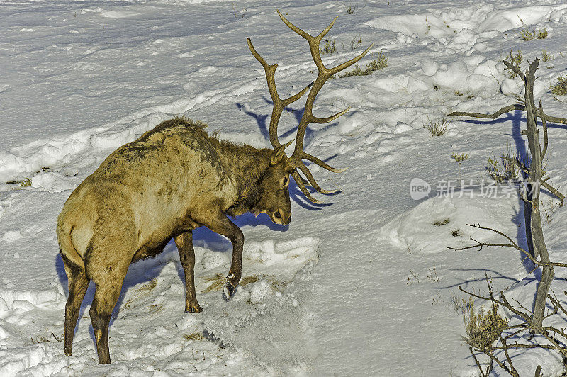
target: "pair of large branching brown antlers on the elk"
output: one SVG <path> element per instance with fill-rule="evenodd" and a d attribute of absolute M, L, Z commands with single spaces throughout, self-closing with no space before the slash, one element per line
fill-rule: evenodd
<path fill-rule="evenodd" d="M 293 23 L 289 22 L 285 17 L 283 17 L 283 15 L 280 13 L 279 10 L 277 12 L 283 23 L 285 23 L 289 28 L 291 28 L 291 30 L 295 31 L 296 33 L 298 33 L 308 41 L 309 48 L 311 51 L 311 56 L 313 57 L 313 61 L 315 62 L 315 65 L 317 66 L 318 69 L 318 75 L 315 81 L 313 81 L 308 86 L 305 86 L 305 88 L 303 88 L 298 94 L 295 94 L 289 97 L 288 99 L 281 99 L 276 89 L 276 79 L 275 79 L 276 68 L 278 67 L 278 64 L 273 64 L 273 65 L 268 64 L 266 60 L 264 60 L 264 58 L 262 58 L 258 54 L 258 52 L 254 49 L 254 46 L 252 45 L 252 41 L 250 41 L 250 38 L 246 38 L 248 42 L 248 47 L 250 48 L 252 55 L 254 55 L 254 57 L 260 62 L 260 64 L 262 64 L 262 67 L 264 67 L 264 71 L 266 72 L 266 80 L 268 81 L 268 89 L 270 92 L 271 100 L 274 103 L 274 109 L 271 112 L 271 118 L 270 118 L 270 131 L 269 131 L 270 142 L 271 145 L 274 146 L 274 148 L 279 147 L 281 145 L 278 140 L 278 122 L 281 116 L 281 112 L 283 111 L 283 108 L 300 99 L 301 96 L 303 96 L 303 94 L 305 94 L 310 89 L 309 94 L 307 96 L 307 101 L 305 101 L 305 111 L 303 111 L 303 116 L 301 117 L 301 120 L 297 128 L 296 147 L 295 150 L 293 150 L 293 154 L 291 155 L 291 157 L 289 157 L 288 161 L 296 169 L 295 171 L 293 171 L 291 176 L 293 176 L 293 179 L 295 179 L 296 184 L 305 194 L 305 196 L 313 203 L 322 203 L 322 201 L 319 201 L 318 199 L 315 199 L 313 198 L 313 196 L 311 196 L 311 194 L 305 187 L 305 184 L 303 183 L 303 179 L 298 173 L 298 169 L 301 170 L 303 174 L 305 174 L 305 177 L 308 179 L 311 186 L 313 186 L 313 188 L 315 188 L 320 193 L 325 193 L 325 194 L 335 193 L 337 192 L 337 190 L 323 190 L 317 184 L 315 178 L 313 178 L 313 174 L 311 174 L 307 166 L 305 166 L 303 159 L 318 164 L 320 167 L 323 167 L 334 173 L 340 173 L 342 171 L 345 171 L 346 169 L 335 169 L 334 167 L 331 167 L 329 164 L 322 162 L 317 157 L 305 153 L 303 151 L 303 139 L 305 137 L 305 130 L 307 130 L 307 126 L 310 123 L 322 124 L 322 123 L 332 122 L 332 120 L 339 118 L 339 116 L 342 116 L 344 113 L 349 111 L 350 106 L 345 108 L 343 111 L 336 113 L 333 116 L 329 116 L 327 118 L 318 118 L 313 115 L 313 103 L 315 102 L 315 97 L 317 96 L 320 89 L 327 81 L 327 79 L 329 79 L 334 74 L 337 74 L 343 69 L 350 67 L 352 64 L 361 60 L 362 57 L 364 57 L 364 55 L 366 55 L 366 53 L 369 52 L 370 48 L 372 47 L 372 45 L 374 45 L 374 43 L 372 43 L 360 55 L 352 58 L 348 62 L 344 62 L 333 68 L 327 68 L 325 67 L 325 64 L 323 64 L 321 60 L 321 55 L 319 52 L 319 44 L 321 43 L 321 40 L 325 36 L 325 34 L 327 34 L 329 30 L 331 30 L 338 16 L 335 17 L 335 19 L 333 19 L 333 21 L 330 23 L 329 26 L 327 26 L 327 28 L 325 28 L 325 30 L 322 30 L 322 32 L 319 35 L 314 37 L 313 35 L 309 35 L 308 33 L 305 33 L 305 31 L 301 30 L 297 26 L 293 25 Z"/>

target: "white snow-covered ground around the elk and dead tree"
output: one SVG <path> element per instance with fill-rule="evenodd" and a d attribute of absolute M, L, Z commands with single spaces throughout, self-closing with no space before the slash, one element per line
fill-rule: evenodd
<path fill-rule="evenodd" d="M 454 119 L 432 138 L 423 125 L 451 111 L 491 113 L 514 103 L 522 84 L 501 64 L 510 49 L 521 50 L 524 62 L 544 50 L 554 55 L 539 65 L 535 97 L 546 113 L 567 116 L 566 99 L 548 89 L 567 69 L 563 3 L 0 1 L 0 376 L 478 375 L 461 338 L 457 287 L 485 291 L 487 271 L 497 291 L 529 306 L 539 271 L 528 274 L 510 250 L 447 247 L 471 244 L 469 237 L 498 240 L 466 223 L 523 244 L 515 192 L 500 186 L 498 198 L 489 197 L 481 183 L 488 157 L 524 148 L 525 118 Z M 279 63 L 281 96 L 315 76 L 305 41 L 276 8 L 313 34 L 339 16 L 328 35 L 337 51 L 324 55 L 326 64 L 371 42 L 363 67 L 380 51 L 388 57 L 386 69 L 334 79 L 318 96 L 316 115 L 352 106 L 334 123 L 310 128 L 305 140 L 309 152 L 349 167 L 343 174 L 312 168 L 322 186 L 342 193 L 313 206 L 292 188 L 288 228 L 264 215 L 237 218 L 245 279 L 229 303 L 220 278 L 230 242 L 196 231 L 202 313 L 184 314 L 173 243 L 130 266 L 111 322 L 108 366 L 96 364 L 89 289 L 73 356 L 64 356 L 67 277 L 55 237 L 64 201 L 116 147 L 173 116 L 203 120 L 227 140 L 269 146 L 271 103 L 245 37 Z M 533 28 L 548 37 L 519 38 Z M 286 140 L 301 115 L 300 104 L 292 108 L 280 122 Z M 549 125 L 547 171 L 563 193 L 566 128 Z M 453 153 L 468 159 L 457 164 Z M 410 196 L 415 178 L 430 185 L 428 198 Z M 21 186 L 26 179 L 31 186 Z M 461 181 L 471 180 L 474 189 L 461 191 Z M 448 198 L 434 197 L 452 186 Z M 544 195 L 550 213 L 551 203 Z M 565 208 L 544 215 L 554 261 L 567 257 L 566 230 Z M 564 291 L 565 277 L 556 271 L 552 288 Z M 546 376 L 563 371 L 544 351 L 515 360 L 521 375 L 533 376 L 537 364 Z"/>

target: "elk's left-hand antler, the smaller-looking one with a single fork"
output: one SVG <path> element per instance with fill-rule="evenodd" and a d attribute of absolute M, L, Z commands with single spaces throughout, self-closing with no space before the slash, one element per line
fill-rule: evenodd
<path fill-rule="evenodd" d="M 303 88 L 297 94 L 287 99 L 281 99 L 279 97 L 278 90 L 276 89 L 276 69 L 278 68 L 278 64 L 272 64 L 272 65 L 268 64 L 266 60 L 264 60 L 264 58 L 260 56 L 259 53 L 256 51 L 254 45 L 252 45 L 252 40 L 250 40 L 250 38 L 246 38 L 246 41 L 248 43 L 248 48 L 250 49 L 250 52 L 252 52 L 252 55 L 254 55 L 256 60 L 258 60 L 258 62 L 262 64 L 262 67 L 264 67 L 264 72 L 266 72 L 266 81 L 268 82 L 268 90 L 270 92 L 271 101 L 272 103 L 274 103 L 274 108 L 271 111 L 271 117 L 270 117 L 269 136 L 270 136 L 271 145 L 274 148 L 277 148 L 281 145 L 278 140 L 278 123 L 279 123 L 279 118 L 281 117 L 281 112 L 290 103 L 293 103 L 298 99 L 300 99 L 301 96 L 303 96 L 303 94 L 305 94 L 308 91 L 308 89 L 313 85 L 313 82 L 308 86 L 305 86 L 305 88 Z"/>

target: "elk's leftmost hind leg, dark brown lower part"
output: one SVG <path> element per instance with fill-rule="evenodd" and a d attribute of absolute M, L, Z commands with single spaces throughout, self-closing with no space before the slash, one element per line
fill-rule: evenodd
<path fill-rule="evenodd" d="M 67 305 L 65 305 L 64 354 L 71 356 L 75 326 L 77 326 L 79 310 L 81 310 L 81 303 L 83 302 L 86 289 L 89 288 L 89 279 L 86 278 L 84 269 L 75 266 L 65 259 L 63 257 L 65 273 L 69 280 L 69 297 L 67 298 Z"/>

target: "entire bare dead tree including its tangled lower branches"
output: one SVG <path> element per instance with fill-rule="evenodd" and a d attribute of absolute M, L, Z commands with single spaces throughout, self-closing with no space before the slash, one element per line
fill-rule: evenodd
<path fill-rule="evenodd" d="M 501 109 L 499 112 L 501 115 L 502 113 L 511 111 L 512 109 L 515 108 L 527 112 L 527 129 L 522 131 L 522 135 L 527 135 L 529 152 L 531 153 L 531 157 L 532 157 L 532 163 L 528 168 L 524 164 L 522 164 L 522 162 L 520 162 L 520 160 L 517 158 L 510 158 L 510 157 L 501 157 L 501 158 L 507 162 L 511 162 L 520 170 L 522 170 L 524 174 L 527 175 L 527 179 L 530 182 L 530 185 L 533 186 L 532 188 L 533 191 L 529 192 L 529 194 L 531 194 L 531 197 L 529 198 L 529 200 L 527 200 L 527 198 L 524 199 L 524 201 L 531 203 L 531 206 L 526 206 L 526 211 L 527 211 L 526 213 L 529 213 L 529 211 L 531 210 L 531 214 L 532 214 L 531 219 L 526 220 L 527 221 L 526 230 L 527 232 L 531 230 L 531 232 L 529 232 L 528 237 L 530 235 L 532 236 L 532 240 L 534 243 L 534 248 L 533 248 L 534 257 L 532 257 L 532 254 L 530 254 L 525 249 L 520 247 L 514 240 L 512 240 L 511 237 L 505 235 L 503 232 L 499 232 L 490 227 L 481 227 L 480 224 L 478 225 L 467 224 L 467 225 L 472 227 L 477 227 L 483 230 L 491 230 L 497 233 L 498 235 L 505 237 L 505 239 L 510 243 L 503 244 L 503 243 L 479 242 L 473 240 L 473 238 L 471 237 L 471 240 L 476 242 L 476 245 L 470 247 L 462 247 L 459 249 L 461 250 L 471 249 L 473 247 L 482 248 L 483 246 L 500 246 L 500 247 L 505 246 L 505 247 L 515 248 L 517 250 L 520 250 L 520 252 L 522 252 L 524 255 L 526 255 L 526 257 L 529 258 L 534 263 L 534 266 L 536 266 L 535 268 L 539 266 L 543 267 L 541 273 L 541 280 L 539 282 L 539 285 L 537 286 L 537 293 L 534 302 L 534 310 L 528 310 L 526 307 L 524 307 L 524 305 L 522 305 L 516 300 L 515 301 L 517 303 L 517 306 L 512 306 L 506 299 L 503 291 L 500 291 L 500 296 L 498 299 L 495 298 L 493 294 L 493 288 L 492 286 L 490 286 L 490 281 L 488 280 L 488 275 L 486 273 L 485 273 L 485 278 L 488 284 L 489 297 L 483 297 L 475 293 L 465 291 L 460 286 L 459 286 L 459 290 L 467 293 L 472 297 L 481 298 L 483 300 L 490 301 L 490 303 L 492 304 L 493 322 L 496 322 L 495 321 L 496 304 L 502 305 L 503 308 L 510 310 L 511 313 L 513 313 L 517 317 L 520 317 L 524 321 L 525 325 L 520 325 L 515 327 L 506 326 L 505 328 L 506 330 L 512 330 L 512 328 L 518 329 L 512 331 L 512 334 L 503 336 L 502 332 L 498 333 L 498 338 L 500 339 L 500 345 L 498 347 L 492 347 L 490 345 L 489 347 L 481 346 L 483 347 L 483 349 L 479 349 L 479 351 L 482 351 L 485 355 L 490 357 L 490 359 L 492 359 L 500 367 L 504 368 L 505 371 L 510 373 L 510 375 L 518 376 L 516 369 L 512 365 L 512 359 L 509 354 L 509 349 L 520 349 L 520 348 L 554 349 L 561 354 L 563 359 L 567 359 L 567 347 L 565 344 L 567 341 L 567 332 L 565 331 L 565 329 L 558 329 L 556 327 L 543 325 L 543 321 L 545 319 L 558 314 L 560 310 L 563 315 L 567 315 L 567 310 L 563 308 L 563 305 L 561 305 L 559 300 L 549 295 L 548 293 L 549 287 L 551 285 L 551 281 L 553 281 L 554 278 L 554 266 L 567 268 L 567 264 L 554 263 L 551 262 L 549 259 L 549 254 L 547 252 L 547 248 L 544 243 L 543 232 L 541 230 L 541 218 L 539 213 L 540 185 L 544 186 L 546 189 L 551 191 L 551 193 L 554 193 L 556 197 L 561 199 L 562 203 L 564 197 L 561 193 L 558 193 L 558 191 L 555 188 L 551 187 L 551 185 L 546 183 L 547 179 L 543 179 L 543 171 L 541 169 L 542 159 L 545 157 L 545 154 L 548 149 L 549 140 L 547 135 L 547 121 L 549 120 L 549 118 L 544 114 L 544 109 L 541 100 L 539 101 L 539 108 L 537 108 L 534 104 L 534 81 L 536 79 L 535 72 L 539 64 L 539 59 L 535 59 L 532 63 L 529 64 L 529 69 L 527 69 L 525 74 L 520 71 L 519 67 L 515 67 L 510 62 L 504 62 L 504 64 L 506 65 L 507 69 L 510 69 L 513 72 L 515 72 L 515 74 L 520 76 L 522 78 L 522 81 L 524 81 L 524 101 L 523 104 L 519 104 L 516 106 L 507 106 Z M 499 115 L 499 112 L 497 111 L 493 115 L 475 114 L 475 113 L 451 113 L 450 115 L 473 116 L 477 118 L 495 118 L 496 116 Z M 539 143 L 539 136 L 538 136 L 539 131 L 537 129 L 538 116 L 539 118 L 541 118 L 541 123 L 544 129 L 543 147 L 541 147 L 541 144 Z M 561 123 L 567 124 L 567 121 L 565 119 L 561 118 L 561 120 L 562 120 Z M 449 248 L 449 249 L 456 249 L 456 248 Z M 532 248 L 530 247 L 530 249 Z M 536 259 L 537 257 L 539 257 L 541 261 L 537 261 Z M 545 315 L 546 300 L 550 300 L 554 308 L 554 310 L 552 310 L 551 313 L 548 312 L 547 315 Z M 518 342 L 515 342 L 515 344 L 507 343 L 510 341 L 510 339 L 513 339 L 513 337 L 517 337 L 518 334 L 521 334 L 525 330 L 530 330 L 529 332 L 532 334 L 529 340 L 532 340 L 536 335 L 539 335 L 540 337 L 546 339 L 546 341 L 549 342 L 549 344 L 539 344 L 543 340 L 541 338 L 537 339 L 536 344 L 518 344 Z M 556 337 L 558 337 L 561 340 L 556 339 Z M 505 361 L 500 361 L 498 357 L 495 356 L 495 351 L 498 350 L 503 351 L 503 354 L 505 355 Z M 502 358 L 501 355 L 500 358 Z M 509 368 L 505 366 L 506 363 L 509 365 Z M 477 366 L 479 365 L 480 364 L 477 363 Z M 482 369 L 481 369 L 481 374 L 483 374 Z M 541 366 L 537 367 L 535 376 L 536 377 L 541 376 Z"/>

